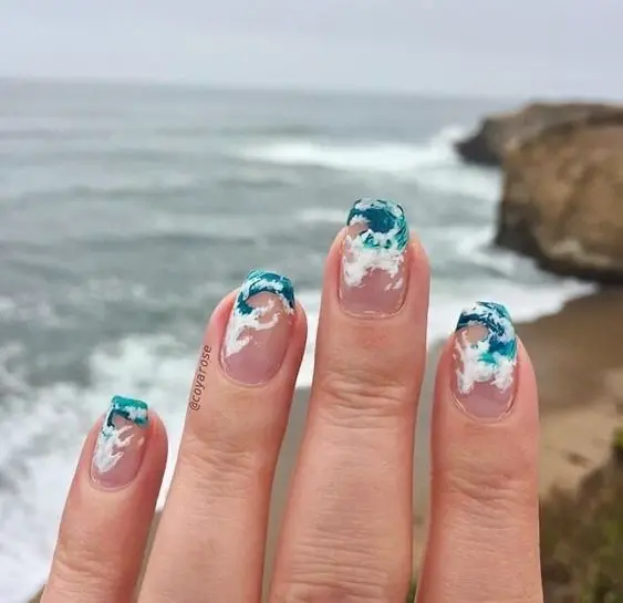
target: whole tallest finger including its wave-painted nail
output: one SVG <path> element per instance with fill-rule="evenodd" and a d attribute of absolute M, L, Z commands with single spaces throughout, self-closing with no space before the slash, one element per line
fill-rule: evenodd
<path fill-rule="evenodd" d="M 270 601 L 404 601 L 428 264 L 404 214 L 360 201 L 326 263 L 310 413 Z"/>

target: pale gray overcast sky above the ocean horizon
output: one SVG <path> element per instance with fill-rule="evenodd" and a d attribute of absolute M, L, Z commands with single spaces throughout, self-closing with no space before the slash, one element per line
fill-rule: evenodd
<path fill-rule="evenodd" d="M 0 0 L 0 75 L 623 98 L 623 0 Z"/>

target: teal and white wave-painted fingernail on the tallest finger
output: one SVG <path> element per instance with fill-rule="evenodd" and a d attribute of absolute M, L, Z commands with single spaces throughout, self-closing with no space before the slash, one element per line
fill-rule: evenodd
<path fill-rule="evenodd" d="M 408 278 L 408 226 L 403 208 L 393 201 L 361 199 L 346 226 L 342 308 L 351 314 L 394 314 L 403 305 Z"/>

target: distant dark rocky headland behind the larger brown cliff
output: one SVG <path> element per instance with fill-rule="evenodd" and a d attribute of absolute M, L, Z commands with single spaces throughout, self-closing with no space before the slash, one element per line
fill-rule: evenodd
<path fill-rule="evenodd" d="M 487 117 L 471 136 L 456 144 L 456 149 L 467 163 L 498 166 L 508 150 L 552 126 L 619 113 L 623 107 L 599 103 L 533 103 Z"/>

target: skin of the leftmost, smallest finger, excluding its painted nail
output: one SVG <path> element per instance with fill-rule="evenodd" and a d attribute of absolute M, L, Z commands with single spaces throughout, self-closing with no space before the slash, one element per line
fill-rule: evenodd
<path fill-rule="evenodd" d="M 166 464 L 166 433 L 149 412 L 150 433 L 138 474 L 125 488 L 102 490 L 90 477 L 101 424 L 83 446 L 41 603 L 133 600 Z"/>

